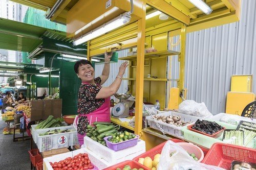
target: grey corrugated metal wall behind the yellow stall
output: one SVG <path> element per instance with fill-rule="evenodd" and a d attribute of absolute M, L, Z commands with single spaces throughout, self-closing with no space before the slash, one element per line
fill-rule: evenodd
<path fill-rule="evenodd" d="M 244 0 L 239 22 L 187 34 L 187 99 L 204 102 L 213 114 L 225 112 L 232 75 L 256 75 L 255 6 L 256 1 Z M 174 42 L 177 39 L 175 37 Z M 179 46 L 173 50 L 179 51 Z M 178 72 L 179 63 L 174 57 L 172 79 L 178 79 Z M 256 83 L 253 83 L 253 92 L 256 93 Z"/>

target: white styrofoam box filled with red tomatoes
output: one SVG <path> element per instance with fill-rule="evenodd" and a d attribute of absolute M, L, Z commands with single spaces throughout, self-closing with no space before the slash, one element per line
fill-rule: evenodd
<path fill-rule="evenodd" d="M 103 169 L 106 168 L 108 166 L 111 166 L 108 162 L 106 162 L 103 159 L 100 159 L 98 156 L 96 156 L 93 152 L 89 151 L 86 148 L 81 148 L 79 150 L 75 150 L 75 151 L 71 151 L 71 152 L 67 152 L 67 153 L 63 153 L 63 154 L 58 154 L 58 155 L 54 155 L 51 157 L 47 157 L 44 158 L 44 170 L 53 170 L 52 166 L 50 165 L 50 162 L 59 162 L 63 159 L 66 159 L 68 157 L 74 157 L 76 155 L 78 155 L 79 153 L 87 153 L 89 159 L 91 160 L 92 164 L 94 164 L 98 169 Z M 95 168 L 96 169 L 96 168 Z"/>

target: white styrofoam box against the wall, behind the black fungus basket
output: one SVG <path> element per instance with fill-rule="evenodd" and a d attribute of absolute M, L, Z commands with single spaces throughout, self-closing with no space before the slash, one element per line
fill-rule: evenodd
<path fill-rule="evenodd" d="M 239 124 L 239 122 L 241 120 L 244 120 L 246 122 L 252 122 L 252 123 L 256 124 L 256 119 L 251 119 L 249 117 L 242 117 L 242 116 L 239 116 L 239 115 L 227 114 L 227 113 L 216 114 L 216 115 L 212 116 L 211 118 L 209 118 L 209 120 L 223 122 L 223 121 L 221 121 L 221 118 L 223 118 L 223 117 L 228 117 L 230 119 L 233 119 L 234 121 L 237 122 L 237 125 Z M 228 123 L 228 122 L 225 122 L 225 123 Z"/>

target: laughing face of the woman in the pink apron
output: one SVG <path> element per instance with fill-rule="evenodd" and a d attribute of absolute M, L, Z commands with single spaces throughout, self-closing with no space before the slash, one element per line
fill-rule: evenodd
<path fill-rule="evenodd" d="M 77 76 L 83 82 L 92 82 L 94 80 L 94 69 L 90 64 L 80 65 Z"/>

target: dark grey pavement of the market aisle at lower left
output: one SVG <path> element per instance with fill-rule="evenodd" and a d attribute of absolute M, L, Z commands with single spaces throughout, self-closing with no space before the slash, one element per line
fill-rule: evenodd
<path fill-rule="evenodd" d="M 30 150 L 30 140 L 13 142 L 12 134 L 3 135 L 3 129 L 5 127 L 7 127 L 7 124 L 0 116 L 0 169 L 29 170 L 30 158 L 28 151 Z M 17 134 L 17 137 L 21 135 Z"/>

